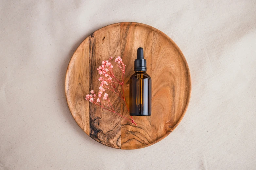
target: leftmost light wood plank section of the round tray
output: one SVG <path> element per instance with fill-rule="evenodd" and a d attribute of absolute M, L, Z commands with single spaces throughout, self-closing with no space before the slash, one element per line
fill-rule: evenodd
<path fill-rule="evenodd" d="M 89 91 L 89 38 L 86 38 L 73 54 L 67 68 L 65 91 L 69 109 L 81 129 L 90 135 L 89 103 L 84 94 Z"/>

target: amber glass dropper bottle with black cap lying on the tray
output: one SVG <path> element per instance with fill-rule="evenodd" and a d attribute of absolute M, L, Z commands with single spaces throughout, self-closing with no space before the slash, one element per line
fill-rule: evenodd
<path fill-rule="evenodd" d="M 146 60 L 143 48 L 138 48 L 137 59 L 134 61 L 135 73 L 130 77 L 130 115 L 151 115 L 151 77 L 146 73 Z"/>

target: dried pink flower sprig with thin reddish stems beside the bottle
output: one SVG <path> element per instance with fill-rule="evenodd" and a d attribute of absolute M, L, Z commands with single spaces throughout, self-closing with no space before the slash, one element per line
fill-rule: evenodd
<path fill-rule="evenodd" d="M 113 73 L 114 66 L 111 64 L 111 60 L 113 57 L 110 57 L 109 60 L 105 60 L 101 62 L 101 65 L 97 68 L 98 73 L 102 75 L 102 77 L 99 77 L 98 80 L 101 82 L 99 86 L 99 91 L 96 97 L 96 94 L 94 93 L 94 90 L 91 90 L 91 94 L 87 94 L 85 99 L 89 100 L 91 103 L 100 106 L 108 111 L 111 111 L 113 113 L 116 113 L 117 115 L 121 116 L 122 118 L 127 119 L 126 117 L 122 116 L 121 114 L 117 113 L 109 99 L 109 95 L 106 92 L 106 90 L 110 90 L 114 93 L 116 93 L 122 100 L 125 101 L 125 92 L 124 92 L 124 78 L 125 78 L 125 64 L 123 63 L 120 56 L 118 56 L 114 61 L 117 63 L 117 66 L 122 71 L 122 80 L 120 81 L 118 78 L 115 77 Z M 122 86 L 122 92 L 120 92 L 117 89 L 117 85 Z M 125 101 L 126 107 L 129 111 L 128 105 Z M 131 123 L 134 123 L 136 126 L 137 124 L 134 122 L 132 116 L 131 116 Z"/>

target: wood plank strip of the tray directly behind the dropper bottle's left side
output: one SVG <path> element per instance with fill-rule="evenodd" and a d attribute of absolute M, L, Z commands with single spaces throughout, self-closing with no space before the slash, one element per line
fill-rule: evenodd
<path fill-rule="evenodd" d="M 151 49 L 152 49 L 152 27 L 139 23 L 121 23 L 121 54 L 126 64 L 125 98 L 129 103 L 129 78 L 134 73 L 134 60 L 137 57 L 137 49 L 144 49 L 144 57 L 147 62 L 147 73 L 151 75 Z M 122 106 L 125 107 L 124 101 Z M 130 117 L 125 108 L 123 116 Z M 132 125 L 128 120 L 121 121 L 121 148 L 136 149 L 149 146 L 151 140 L 151 116 L 134 116 L 137 123 Z"/>

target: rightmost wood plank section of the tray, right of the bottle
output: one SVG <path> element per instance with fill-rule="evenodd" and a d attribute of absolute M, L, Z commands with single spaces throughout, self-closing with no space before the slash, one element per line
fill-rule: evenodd
<path fill-rule="evenodd" d="M 152 28 L 151 138 L 156 143 L 169 135 L 183 118 L 191 92 L 187 62 L 178 46 Z"/>

